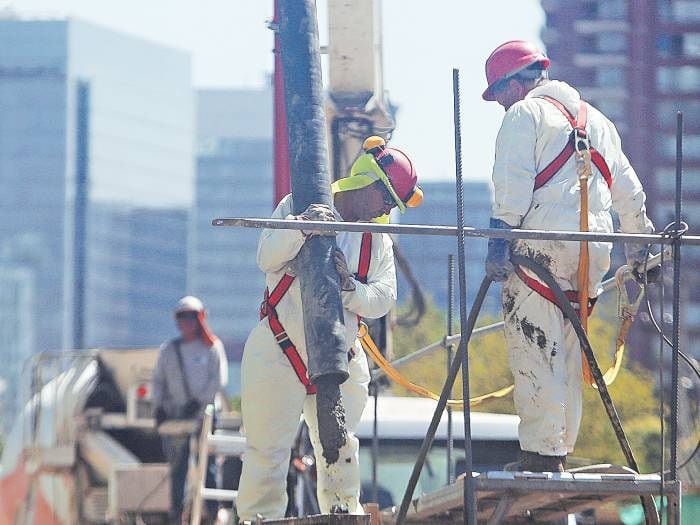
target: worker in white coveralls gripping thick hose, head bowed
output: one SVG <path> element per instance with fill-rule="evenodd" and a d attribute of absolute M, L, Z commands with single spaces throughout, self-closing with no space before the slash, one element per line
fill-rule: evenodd
<path fill-rule="evenodd" d="M 272 217 L 297 220 L 364 222 L 386 216 L 392 208 L 404 212 L 418 206 L 423 193 L 413 164 L 401 151 L 370 137 L 349 177 L 333 183 L 333 209 L 311 204 L 292 215 L 287 195 Z M 315 232 L 263 230 L 257 262 L 265 272 L 267 290 L 261 320 L 245 345 L 241 368 L 241 401 L 247 448 L 236 501 L 239 518 L 284 517 L 290 452 L 303 413 L 309 427 L 317 468 L 317 495 L 321 512 L 332 507 L 362 513 L 360 505 L 359 442 L 354 431 L 367 401 L 370 375 L 357 340 L 358 316 L 385 315 L 396 302 L 396 270 L 391 238 L 386 234 L 338 232 L 335 265 L 341 281 L 349 378 L 340 385 L 347 442 L 340 458 L 328 465 L 322 458 L 316 420 L 314 386 L 306 372 L 301 292 L 295 261 L 304 242 Z M 335 235 L 335 234 L 332 234 Z M 276 338 L 286 331 L 289 340 Z M 282 339 L 282 346 L 277 341 Z"/>

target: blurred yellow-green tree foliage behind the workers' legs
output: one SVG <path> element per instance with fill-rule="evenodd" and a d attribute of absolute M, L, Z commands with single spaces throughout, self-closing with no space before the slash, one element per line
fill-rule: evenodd
<path fill-rule="evenodd" d="M 608 294 L 601 298 L 591 317 L 589 338 L 598 358 L 600 368 L 610 366 L 619 328 L 616 315 L 617 296 Z M 496 319 L 480 319 L 478 326 L 485 326 Z M 428 344 L 440 341 L 446 333 L 446 319 L 442 311 L 429 304 L 421 322 L 411 328 L 395 327 L 393 331 L 394 354 L 401 357 Z M 456 327 L 459 332 L 459 327 Z M 455 352 L 456 352 L 455 348 Z M 401 368 L 412 382 L 439 394 L 447 376 L 447 351 L 438 349 Z M 471 396 L 480 395 L 512 383 L 508 357 L 502 330 L 475 336 L 469 344 L 469 376 Z M 392 386 L 396 395 L 412 395 L 404 388 Z M 659 402 L 655 397 L 652 374 L 629 361 L 623 362 L 610 394 L 622 420 L 623 428 L 643 472 L 658 470 L 660 464 Z M 461 398 L 461 373 L 458 374 L 452 398 Z M 515 413 L 512 396 L 484 403 L 478 411 Z M 587 463 L 604 462 L 625 464 L 620 446 L 609 423 L 598 391 L 584 388 L 584 408 L 581 430 L 574 456 L 585 458 Z"/>

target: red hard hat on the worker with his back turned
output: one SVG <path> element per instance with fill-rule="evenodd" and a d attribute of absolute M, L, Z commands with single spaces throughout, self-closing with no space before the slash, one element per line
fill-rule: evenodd
<path fill-rule="evenodd" d="M 511 40 L 501 44 L 486 59 L 486 82 L 489 87 L 484 91 L 484 100 L 496 100 L 494 98 L 494 86 L 504 78 L 511 77 L 526 67 L 542 63 L 543 69 L 549 67 L 549 59 L 532 42 L 525 40 Z"/>

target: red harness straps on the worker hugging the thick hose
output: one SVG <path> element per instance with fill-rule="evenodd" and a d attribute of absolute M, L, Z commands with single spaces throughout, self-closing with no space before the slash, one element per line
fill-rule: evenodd
<path fill-rule="evenodd" d="M 362 243 L 360 245 L 360 260 L 358 263 L 356 279 L 361 283 L 367 283 L 367 274 L 369 272 L 369 263 L 372 256 L 372 234 L 365 232 L 362 234 Z M 279 280 L 275 288 L 270 292 L 265 288 L 263 302 L 260 304 L 260 319 L 267 317 L 267 322 L 270 325 L 270 330 L 275 336 L 277 344 L 280 345 L 282 353 L 289 360 L 289 363 L 294 369 L 294 373 L 299 378 L 299 381 L 306 389 L 307 394 L 315 394 L 316 386 L 311 383 L 309 373 L 304 360 L 299 355 L 297 347 L 287 335 L 284 326 L 277 316 L 275 307 L 279 304 L 294 282 L 295 276 L 285 273 Z M 358 316 L 358 323 L 361 318 Z M 354 350 L 351 348 L 348 352 L 348 360 L 355 356 Z"/>

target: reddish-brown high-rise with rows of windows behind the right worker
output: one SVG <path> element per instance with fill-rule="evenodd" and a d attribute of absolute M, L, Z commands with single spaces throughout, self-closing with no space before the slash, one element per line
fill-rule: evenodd
<path fill-rule="evenodd" d="M 683 111 L 683 209 L 697 233 L 700 1 L 543 0 L 542 7 L 551 76 L 570 82 L 615 122 L 659 230 L 673 218 L 676 112 Z M 700 277 L 688 270 L 700 263 L 700 252 L 685 249 L 683 260 L 682 288 L 697 289 Z M 683 315 L 684 332 L 700 335 L 700 300 L 687 292 Z M 639 345 L 651 340 L 639 334 L 635 339 Z"/>

